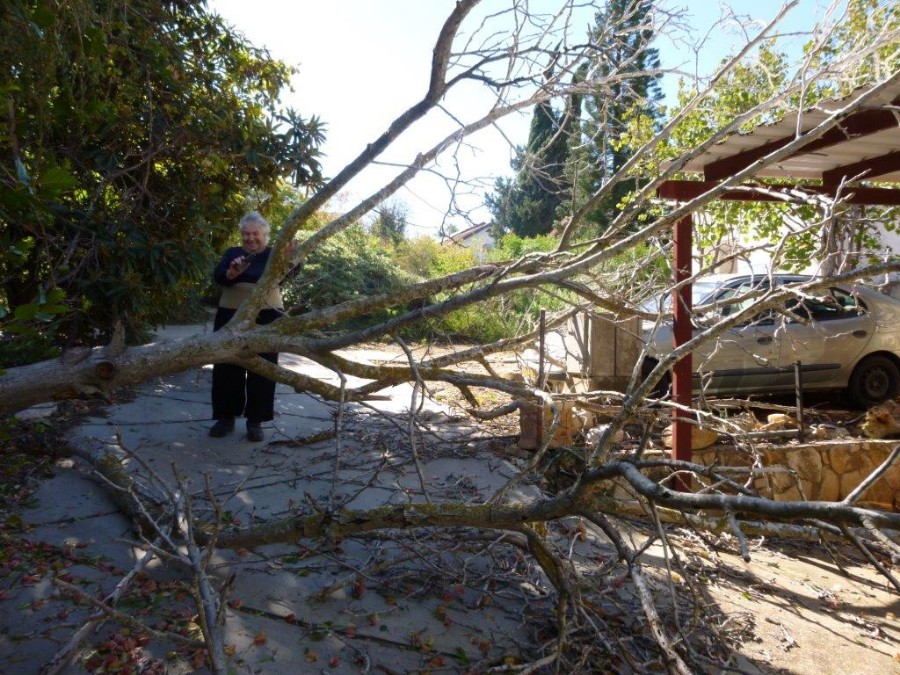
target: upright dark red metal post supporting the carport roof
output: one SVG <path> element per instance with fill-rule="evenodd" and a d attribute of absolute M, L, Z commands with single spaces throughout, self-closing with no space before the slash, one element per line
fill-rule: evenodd
<path fill-rule="evenodd" d="M 680 283 L 691 276 L 691 231 L 693 220 L 688 214 L 675 224 L 675 282 Z M 691 327 L 691 286 L 685 284 L 674 292 L 674 325 L 673 341 L 677 348 L 693 336 Z M 690 354 L 680 359 L 672 369 L 672 398 L 674 402 L 690 408 L 692 401 L 691 373 L 693 362 Z M 672 429 L 672 455 L 675 459 L 690 461 L 693 454 L 691 447 L 691 425 L 688 414 L 676 411 Z M 688 489 L 681 481 L 676 483 L 678 489 Z"/>

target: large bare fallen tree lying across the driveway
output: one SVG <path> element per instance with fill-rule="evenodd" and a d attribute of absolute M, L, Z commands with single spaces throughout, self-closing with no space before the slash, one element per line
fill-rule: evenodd
<path fill-rule="evenodd" d="M 688 149 L 682 149 L 664 168 L 660 168 L 657 161 L 660 146 L 680 124 L 709 100 L 715 83 L 727 78 L 729 73 L 740 66 L 741 59 L 754 47 L 759 46 L 777 25 L 777 21 L 781 18 L 779 16 L 772 25 L 749 40 L 735 59 L 723 65 L 711 83 L 699 86 L 696 93 L 684 102 L 682 108 L 673 114 L 661 129 L 654 130 L 645 138 L 623 168 L 610 176 L 609 180 L 585 203 L 566 214 L 561 221 L 559 246 L 555 251 L 529 254 L 518 260 L 495 262 L 441 279 L 411 284 L 389 295 L 362 298 L 322 310 L 289 314 L 267 326 L 255 325 L 253 319 L 262 307 L 267 290 L 277 284 L 290 267 L 314 256 L 316 248 L 323 242 L 394 195 L 418 173 L 434 170 L 436 160 L 465 143 L 472 134 L 518 111 L 602 89 L 604 77 L 611 83 L 622 78 L 649 75 L 650 73 L 614 70 L 606 71 L 594 79 L 590 75 L 583 79 L 573 77 L 582 64 L 591 63 L 595 45 L 582 43 L 576 39 L 577 36 L 564 36 L 559 31 L 572 30 L 574 22 L 570 12 L 575 11 L 581 4 L 561 3 L 560 11 L 550 16 L 529 14 L 527 8 L 512 3 L 507 11 L 500 14 L 491 17 L 479 16 L 478 18 L 486 23 L 480 29 L 476 23 L 472 35 L 466 42 L 461 37 L 461 30 L 467 25 L 467 21 L 474 21 L 479 3 L 475 0 L 462 0 L 456 3 L 436 40 L 431 76 L 422 99 L 400 115 L 382 135 L 366 146 L 358 157 L 324 187 L 312 194 L 282 224 L 275 242 L 274 254 L 264 277 L 257 284 L 251 298 L 238 310 L 227 327 L 216 333 L 193 336 L 190 339 L 140 346 L 126 346 L 123 336 L 119 335 L 108 345 L 71 349 L 59 359 L 11 368 L 0 376 L 0 413 L 9 415 L 42 401 L 102 395 L 149 378 L 197 368 L 210 362 L 228 361 L 245 365 L 297 390 L 340 402 L 365 401 L 367 397 L 399 382 L 414 382 L 421 385 L 430 382 L 448 383 L 459 388 L 473 407 L 478 403 L 478 397 L 473 391 L 478 389 L 500 391 L 510 395 L 513 400 L 512 404 L 503 405 L 501 412 L 510 414 L 518 409 L 521 402 L 539 400 L 553 411 L 554 425 L 558 424 L 557 402 L 553 395 L 541 387 L 505 381 L 490 373 L 487 375 L 460 373 L 454 368 L 461 362 L 470 361 L 492 351 L 530 344 L 536 336 L 534 330 L 523 331 L 521 335 L 509 340 L 467 347 L 440 357 L 415 359 L 410 353 L 409 361 L 404 365 L 366 365 L 355 362 L 339 352 L 348 346 L 376 338 L 394 337 L 399 341 L 396 336 L 405 326 L 428 321 L 476 303 L 522 290 L 565 298 L 570 307 L 561 312 L 556 320 L 562 320 L 570 311 L 590 312 L 596 311 L 598 307 L 612 311 L 620 318 L 630 316 L 656 318 L 655 315 L 643 313 L 638 305 L 638 301 L 646 297 L 643 291 L 650 290 L 649 287 L 637 288 L 638 282 L 650 280 L 638 278 L 632 270 L 614 266 L 617 256 L 648 241 L 657 242 L 660 254 L 668 255 L 667 242 L 674 223 L 685 215 L 711 204 L 728 190 L 752 178 L 759 170 L 815 142 L 832 129 L 840 128 L 850 115 L 882 100 L 879 97 L 883 98 L 885 92 L 896 92 L 900 82 L 900 74 L 896 69 L 883 77 L 875 78 L 864 90 L 854 89 L 854 93 L 842 99 L 841 105 L 833 107 L 823 122 L 811 130 L 798 132 L 791 142 L 773 149 L 747 169 L 735 173 L 684 204 L 666 209 L 659 208 L 656 190 L 665 180 L 678 175 L 692 158 L 743 128 L 745 124 L 767 114 L 785 114 L 785 112 L 797 114 L 800 104 L 796 101 L 802 100 L 798 99 L 801 92 L 818 82 L 846 84 L 858 72 L 860 64 L 881 50 L 893 49 L 894 52 L 891 52 L 889 58 L 896 63 L 898 28 L 890 22 L 883 26 L 881 31 L 868 34 L 865 42 L 854 44 L 852 49 L 842 51 L 840 63 L 833 61 L 819 63 L 815 59 L 817 52 L 813 51 L 801 64 L 802 77 L 798 76 L 787 81 L 777 93 L 765 101 L 734 115 L 720 127 L 708 130 L 700 142 Z M 659 21 L 657 31 L 662 31 L 670 19 L 673 17 L 662 15 L 657 17 Z M 502 24 L 506 31 L 502 33 L 503 39 L 498 40 L 496 33 L 491 31 L 491 20 L 508 22 Z M 546 30 L 536 33 L 526 30 L 526 26 L 537 21 L 547 22 L 544 25 Z M 519 27 L 513 33 L 515 39 L 508 34 L 510 26 Z M 619 26 L 609 27 L 613 32 L 617 28 Z M 514 47 L 511 48 L 510 45 Z M 822 43 L 816 43 L 814 46 L 821 48 Z M 552 54 L 555 69 L 548 72 L 546 64 L 541 63 L 541 59 L 534 57 L 534 54 L 541 56 Z M 493 93 L 493 98 L 485 110 L 466 119 L 457 119 L 457 124 L 450 133 L 431 147 L 424 148 L 381 190 L 333 218 L 297 245 L 292 245 L 304 224 L 314 214 L 327 210 L 329 200 L 346 187 L 352 178 L 365 167 L 378 161 L 382 153 L 402 134 L 407 133 L 413 124 L 426 115 L 440 111 L 456 88 L 472 82 L 485 84 Z M 518 94 L 519 97 L 514 98 Z M 895 106 L 896 101 L 893 99 L 883 104 L 884 109 L 893 109 Z M 617 184 L 635 173 L 643 178 L 643 184 L 630 196 L 629 203 L 622 206 L 609 228 L 596 237 L 579 236 L 581 221 L 590 208 L 611 194 Z M 824 203 L 815 193 L 793 191 L 789 194 L 779 194 L 781 198 L 796 201 L 804 207 L 824 206 L 824 210 L 828 213 L 835 208 L 834 200 Z M 839 200 L 840 196 L 837 201 Z M 651 214 L 652 217 L 648 217 L 647 214 Z M 776 262 L 789 238 L 810 231 L 816 232 L 820 226 L 821 221 L 804 225 L 799 233 L 795 231 L 776 237 L 773 242 L 767 244 Z M 699 270 L 697 274 L 706 273 L 710 269 L 712 266 Z M 895 261 L 874 265 L 863 264 L 817 283 L 831 283 L 835 279 L 864 279 L 898 270 L 900 263 Z M 634 282 L 631 283 L 633 279 Z M 630 285 L 633 287 L 626 292 L 625 289 Z M 813 283 L 809 288 L 812 289 L 815 285 Z M 671 280 L 668 286 L 671 289 Z M 775 306 L 787 295 L 787 291 L 771 291 L 760 295 L 752 311 Z M 375 309 L 407 307 L 411 301 L 422 302 L 416 303 L 415 309 L 401 312 L 382 323 L 339 334 L 319 332 L 323 327 L 371 314 Z M 533 556 L 556 593 L 558 633 L 549 655 L 527 664 L 521 670 L 530 672 L 542 667 L 552 668 L 554 664 L 560 669 L 571 667 L 581 659 L 577 653 L 573 656 L 571 652 L 581 649 L 582 656 L 594 653 L 592 650 L 596 649 L 596 643 L 581 641 L 578 630 L 587 630 L 585 627 L 590 627 L 591 621 L 599 613 L 585 597 L 579 587 L 577 575 L 573 573 L 565 556 L 560 553 L 559 538 L 547 529 L 548 523 L 559 525 L 562 521 L 570 519 L 577 520 L 582 527 L 590 526 L 596 529 L 615 547 L 618 553 L 617 562 L 625 567 L 636 589 L 647 630 L 655 640 L 662 667 L 669 672 L 694 672 L 701 664 L 709 666 L 709 663 L 699 659 L 692 645 L 680 640 L 677 631 L 673 632 L 666 622 L 660 619 L 659 603 L 648 589 L 641 560 L 646 549 L 628 543 L 622 534 L 622 528 L 616 523 L 615 518 L 627 515 L 624 510 L 620 510 L 615 503 L 597 498 L 598 486 L 606 482 L 618 479 L 626 481 L 639 495 L 640 502 L 646 508 L 646 513 L 650 515 L 649 520 L 654 525 L 661 521 L 659 512 L 665 510 L 681 513 L 684 521 L 693 527 L 718 528 L 721 527 L 721 522 L 711 523 L 707 519 L 708 514 L 724 513 L 724 522 L 735 538 L 741 542 L 740 547 L 744 555 L 747 555 L 746 535 L 741 523 L 748 517 L 788 521 L 798 526 L 827 532 L 829 536 L 840 533 L 847 541 L 863 551 L 873 564 L 878 565 L 889 583 L 900 590 L 900 584 L 894 575 L 879 562 L 879 556 L 897 555 L 898 545 L 894 533 L 900 529 L 900 516 L 897 514 L 861 508 L 856 506 L 853 500 L 847 503 L 777 503 L 758 497 L 745 486 L 718 474 L 715 474 L 715 478 L 721 488 L 715 492 L 692 494 L 675 491 L 663 485 L 663 481 L 648 477 L 644 471 L 648 465 L 642 462 L 640 453 L 634 457 L 612 458 L 615 432 L 623 428 L 643 409 L 663 374 L 703 341 L 715 341 L 728 328 L 748 319 L 750 313 L 750 309 L 736 313 L 698 333 L 688 343 L 662 359 L 643 381 L 640 381 L 636 373 L 627 391 L 621 395 L 621 400 L 617 401 L 618 409 L 609 422 L 608 432 L 601 437 L 596 446 L 586 451 L 584 467 L 573 484 L 558 494 L 536 499 L 531 503 L 511 504 L 507 500 L 507 495 L 512 485 L 530 480 L 538 473 L 541 461 L 550 449 L 553 427 L 550 433 L 546 434 L 544 442 L 536 450 L 528 466 L 504 488 L 479 504 L 409 504 L 368 511 L 311 509 L 310 513 L 303 516 L 263 525 L 251 525 L 239 531 L 225 533 L 209 523 L 199 522 L 202 519 L 194 514 L 190 505 L 185 504 L 183 490 L 164 491 L 169 496 L 168 500 L 154 505 L 165 514 L 159 516 L 147 508 L 147 497 L 133 490 L 134 486 L 131 485 L 127 475 L 113 472 L 112 482 L 124 493 L 136 496 L 134 504 L 137 506 L 134 507 L 134 512 L 140 513 L 146 521 L 155 524 L 155 533 L 148 536 L 145 542 L 147 550 L 163 558 L 178 556 L 183 563 L 186 559 L 185 564 L 194 570 L 198 589 L 197 604 L 205 617 L 204 639 L 209 647 L 211 667 L 216 672 L 225 672 L 228 667 L 221 635 L 217 634 L 221 628 L 221 625 L 217 624 L 217 617 L 223 600 L 213 597 L 215 592 L 211 588 L 204 566 L 211 549 L 207 549 L 204 553 L 200 549 L 201 546 L 206 544 L 209 547 L 247 548 L 276 541 L 297 542 L 310 538 L 350 537 L 375 531 L 388 531 L 393 534 L 394 531 L 422 528 L 495 531 L 498 536 L 511 537 L 515 542 L 514 545 Z M 551 323 L 553 320 L 554 318 L 551 318 Z M 369 382 L 356 389 L 328 385 L 254 356 L 258 352 L 268 351 L 302 356 L 339 373 L 342 377 L 354 375 Z M 588 392 L 584 396 L 601 398 L 605 395 Z M 477 416 L 487 418 L 492 414 L 493 411 L 481 410 Z M 108 458 L 103 461 L 107 460 Z M 669 460 L 665 460 L 663 464 L 670 473 L 688 472 L 702 475 L 709 471 L 708 467 Z M 161 525 L 173 517 L 182 523 L 182 529 L 177 534 L 188 542 L 186 555 L 176 553 L 181 540 L 170 535 L 167 528 Z M 754 523 L 753 527 L 761 526 Z M 773 531 L 790 530 L 774 528 Z M 654 535 L 653 539 L 656 538 Z M 659 535 L 659 538 L 665 539 L 662 535 Z M 151 540 L 154 542 L 152 545 L 148 543 Z M 112 614 L 110 610 L 110 615 Z M 620 652 L 625 654 L 628 650 L 621 648 Z"/>

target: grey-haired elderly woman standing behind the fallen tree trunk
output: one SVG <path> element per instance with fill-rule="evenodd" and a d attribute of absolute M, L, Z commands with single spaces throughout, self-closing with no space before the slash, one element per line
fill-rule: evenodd
<path fill-rule="evenodd" d="M 253 285 L 259 281 L 272 249 L 269 243 L 269 223 L 256 211 L 241 218 L 241 245 L 225 251 L 216 266 L 214 277 L 222 286 L 222 297 L 216 311 L 213 330 L 227 324 L 237 308 L 250 297 Z M 275 321 L 283 314 L 281 291 L 274 287 L 266 297 L 266 304 L 256 317 L 257 324 Z M 260 354 L 278 363 L 277 353 Z M 234 431 L 235 417 L 247 418 L 247 440 L 263 440 L 262 423 L 274 416 L 275 382 L 246 368 L 231 363 L 213 366 L 213 419 L 216 423 L 209 435 L 220 438 Z"/>

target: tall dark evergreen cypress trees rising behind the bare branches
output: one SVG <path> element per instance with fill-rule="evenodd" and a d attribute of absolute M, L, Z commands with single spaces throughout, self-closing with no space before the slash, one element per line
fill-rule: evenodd
<path fill-rule="evenodd" d="M 593 199 L 634 153 L 629 130 L 640 119 L 654 128 L 662 117 L 659 55 L 654 38 L 652 0 L 610 0 L 595 16 L 589 39 L 593 58 L 573 74 L 587 93 L 573 90 L 565 110 L 547 102 L 535 107 L 528 145 L 512 168 L 514 179 L 498 178 L 487 203 L 493 234 L 548 234 L 567 213 Z M 552 66 L 551 66 L 552 68 Z M 648 73 L 629 76 L 629 73 Z M 602 79 L 602 88 L 590 82 Z M 584 109 L 582 109 L 584 108 Z M 622 181 L 588 211 L 588 236 L 602 233 L 620 210 L 638 178 Z"/>

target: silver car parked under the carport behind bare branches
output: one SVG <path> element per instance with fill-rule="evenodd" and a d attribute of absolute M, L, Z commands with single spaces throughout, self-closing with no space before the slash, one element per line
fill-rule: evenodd
<path fill-rule="evenodd" d="M 792 287 L 813 277 L 795 274 L 719 275 L 698 280 L 692 300 L 694 334 L 759 303 L 759 291 Z M 752 295 L 748 296 L 748 293 Z M 657 307 L 657 310 L 660 307 Z M 663 308 L 665 309 L 665 308 Z M 672 349 L 671 323 L 645 328 L 645 373 Z M 792 294 L 694 351 L 694 390 L 708 394 L 768 394 L 795 389 L 846 390 L 868 408 L 900 391 L 900 301 L 856 284 L 835 283 Z M 660 391 L 668 388 L 661 383 Z"/>

